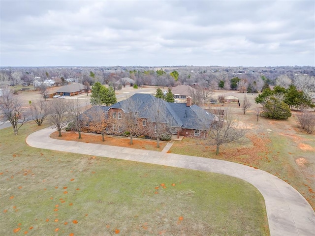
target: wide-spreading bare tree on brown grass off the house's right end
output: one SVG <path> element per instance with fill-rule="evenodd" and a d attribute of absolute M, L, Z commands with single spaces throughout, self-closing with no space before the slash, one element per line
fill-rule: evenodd
<path fill-rule="evenodd" d="M 220 112 L 220 111 L 219 111 Z M 246 127 L 242 127 L 229 110 L 225 115 L 217 115 L 208 133 L 210 145 L 216 145 L 216 155 L 219 155 L 221 145 L 235 142 L 242 144 L 245 142 L 245 134 L 248 132 Z"/>

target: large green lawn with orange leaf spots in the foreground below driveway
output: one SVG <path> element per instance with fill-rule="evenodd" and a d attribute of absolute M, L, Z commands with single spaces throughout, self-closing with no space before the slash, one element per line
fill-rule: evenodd
<path fill-rule="evenodd" d="M 0 235 L 269 235 L 243 180 L 28 147 L 37 129 L 0 130 Z"/>

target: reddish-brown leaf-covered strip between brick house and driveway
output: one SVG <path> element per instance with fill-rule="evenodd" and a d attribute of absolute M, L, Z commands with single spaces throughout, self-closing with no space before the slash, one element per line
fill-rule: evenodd
<path fill-rule="evenodd" d="M 110 145 L 110 146 L 118 146 L 125 148 L 137 148 L 137 149 L 146 149 L 146 150 L 154 150 L 161 151 L 166 146 L 167 142 L 160 141 L 160 148 L 157 148 L 157 142 L 153 140 L 147 139 L 136 139 L 133 138 L 133 144 L 130 145 L 130 138 L 127 137 L 113 137 L 105 135 L 105 141 L 102 141 L 102 136 L 97 134 L 88 134 L 82 133 L 82 139 L 79 139 L 78 134 L 75 132 L 62 132 L 62 137 L 58 137 L 58 131 L 52 133 L 50 135 L 53 139 L 60 139 L 66 141 L 75 141 L 75 142 L 83 142 L 83 143 L 92 143 L 92 144 L 101 144 L 101 145 Z"/>

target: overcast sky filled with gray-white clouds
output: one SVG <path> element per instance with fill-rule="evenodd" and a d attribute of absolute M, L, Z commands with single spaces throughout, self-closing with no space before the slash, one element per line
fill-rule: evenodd
<path fill-rule="evenodd" d="M 314 0 L 0 0 L 1 66 L 315 66 Z"/>

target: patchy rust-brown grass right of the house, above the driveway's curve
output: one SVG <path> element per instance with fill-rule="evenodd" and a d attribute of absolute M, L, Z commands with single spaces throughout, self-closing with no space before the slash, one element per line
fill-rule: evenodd
<path fill-rule="evenodd" d="M 267 171 L 292 185 L 315 209 L 315 135 L 297 127 L 295 112 L 287 120 L 259 118 L 258 122 L 251 111 L 246 115 L 241 109 L 233 112 L 250 127 L 246 145 L 221 146 L 220 155 L 215 155 L 215 146 L 185 138 L 175 142 L 170 152 L 222 159 Z"/>

